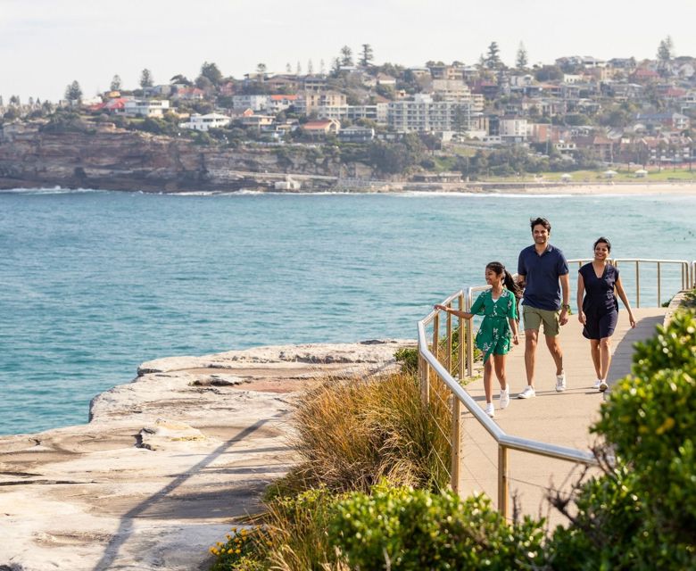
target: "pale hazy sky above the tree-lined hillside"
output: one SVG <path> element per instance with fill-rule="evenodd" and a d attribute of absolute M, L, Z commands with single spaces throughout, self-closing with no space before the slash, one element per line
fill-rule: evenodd
<path fill-rule="evenodd" d="M 654 58 L 671 36 L 676 55 L 696 56 L 696 0 L 0 0 L 0 95 L 58 101 L 79 82 L 85 96 L 114 75 L 138 87 L 195 79 L 203 62 L 243 78 L 265 63 L 326 69 L 343 46 L 369 44 L 377 64 L 476 63 L 495 41 L 512 65 L 592 55 Z M 356 58 L 357 59 L 357 58 Z"/>

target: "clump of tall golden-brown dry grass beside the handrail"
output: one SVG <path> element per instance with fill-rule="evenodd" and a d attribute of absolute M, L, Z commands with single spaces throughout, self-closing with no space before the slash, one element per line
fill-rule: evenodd
<path fill-rule="evenodd" d="M 445 434 L 452 419 L 443 398 L 431 401 L 422 403 L 418 380 L 410 374 L 327 378 L 294 406 L 293 444 L 302 461 L 276 492 L 319 484 L 333 492 L 369 492 L 382 478 L 443 488 L 451 453 Z"/>

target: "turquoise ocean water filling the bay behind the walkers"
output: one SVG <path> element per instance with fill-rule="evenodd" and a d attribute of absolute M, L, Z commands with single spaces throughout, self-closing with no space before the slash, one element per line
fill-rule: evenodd
<path fill-rule="evenodd" d="M 87 422 L 145 360 L 415 338 L 537 215 L 568 258 L 696 259 L 696 194 L 0 193 L 0 434 Z"/>

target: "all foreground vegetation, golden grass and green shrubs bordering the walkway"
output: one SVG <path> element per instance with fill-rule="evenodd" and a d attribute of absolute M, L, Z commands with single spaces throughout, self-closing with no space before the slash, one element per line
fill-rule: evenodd
<path fill-rule="evenodd" d="M 448 491 L 433 423 L 449 414 L 422 404 L 414 375 L 329 379 L 295 406 L 298 467 L 269 488 L 264 514 L 211 548 L 212 569 L 693 568 L 694 298 L 638 344 L 602 404 L 601 475 L 550 493 L 567 525 L 507 522 L 485 496 Z"/>

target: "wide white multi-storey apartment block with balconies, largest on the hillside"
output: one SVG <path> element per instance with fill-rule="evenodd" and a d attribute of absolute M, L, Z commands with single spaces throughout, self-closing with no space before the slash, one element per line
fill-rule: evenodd
<path fill-rule="evenodd" d="M 412 100 L 388 103 L 386 122 L 400 133 L 464 131 L 471 128 L 471 103 L 414 95 Z"/>

